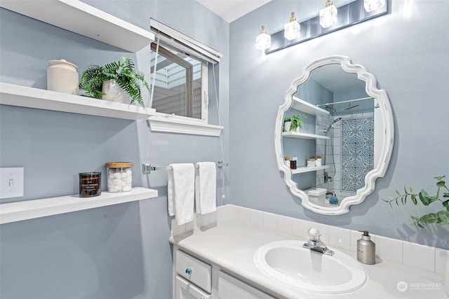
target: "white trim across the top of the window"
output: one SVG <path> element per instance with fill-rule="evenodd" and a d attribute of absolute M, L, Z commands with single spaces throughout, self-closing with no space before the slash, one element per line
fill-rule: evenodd
<path fill-rule="evenodd" d="M 199 41 L 191 39 L 185 34 L 177 32 L 173 28 L 163 25 L 161 22 L 151 19 L 149 24 L 152 32 L 154 32 L 155 34 L 161 32 L 162 34 L 169 36 L 170 39 L 173 39 L 175 42 L 180 43 L 182 46 L 187 46 L 188 48 L 190 48 L 191 53 L 200 53 L 201 55 L 208 57 L 210 60 L 213 60 L 213 62 L 220 62 L 220 57 L 223 57 L 222 53 L 213 50 L 213 48 L 210 48 L 206 45 L 203 45 L 203 43 L 200 43 Z M 161 36 L 161 40 L 162 38 L 163 36 Z M 168 43 L 167 39 L 163 39 L 163 41 Z"/>

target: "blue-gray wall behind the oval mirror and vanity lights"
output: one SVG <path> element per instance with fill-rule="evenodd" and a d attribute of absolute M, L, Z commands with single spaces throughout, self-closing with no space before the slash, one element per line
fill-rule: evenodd
<path fill-rule="evenodd" d="M 324 1 L 323 1 L 324 2 Z M 342 1 L 334 1 L 336 6 Z M 299 21 L 314 17 L 316 0 L 272 1 L 230 25 L 231 201 L 243 207 L 317 221 L 342 228 L 449 248 L 449 228 L 416 230 L 410 214 L 441 209 L 390 209 L 382 201 L 394 190 L 413 186 L 435 192 L 434 176 L 449 176 L 449 2 L 389 1 L 390 11 L 375 20 L 262 55 L 254 46 L 260 26 L 283 29 L 291 11 Z M 376 190 L 348 214 L 323 216 L 304 209 L 278 171 L 274 122 L 290 83 L 310 62 L 330 55 L 349 56 L 373 74 L 394 109 L 394 151 Z M 248 130 L 242 130 L 247 127 Z"/>

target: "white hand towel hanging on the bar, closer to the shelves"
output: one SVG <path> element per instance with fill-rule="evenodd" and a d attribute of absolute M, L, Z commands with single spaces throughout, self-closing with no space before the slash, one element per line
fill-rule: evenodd
<path fill-rule="evenodd" d="M 178 225 L 194 220 L 195 167 L 192 163 L 170 164 L 168 170 L 168 214 Z"/>

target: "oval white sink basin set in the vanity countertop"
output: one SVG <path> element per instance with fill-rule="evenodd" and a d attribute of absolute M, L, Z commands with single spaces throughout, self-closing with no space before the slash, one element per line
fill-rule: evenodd
<path fill-rule="evenodd" d="M 255 264 L 279 284 L 312 293 L 349 293 L 368 280 L 355 258 L 335 249 L 335 254 L 328 256 L 304 249 L 302 244 L 298 240 L 265 244 L 255 252 Z"/>

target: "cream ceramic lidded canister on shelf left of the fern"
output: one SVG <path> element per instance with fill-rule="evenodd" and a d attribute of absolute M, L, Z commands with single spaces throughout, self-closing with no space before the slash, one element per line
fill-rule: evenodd
<path fill-rule="evenodd" d="M 47 69 L 47 90 L 78 95 L 79 76 L 75 64 L 65 60 L 50 60 Z"/>

